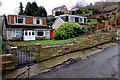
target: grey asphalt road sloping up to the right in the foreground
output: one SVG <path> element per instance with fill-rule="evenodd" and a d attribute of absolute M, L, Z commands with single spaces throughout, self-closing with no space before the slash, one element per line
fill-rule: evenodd
<path fill-rule="evenodd" d="M 106 48 L 86 60 L 78 60 L 69 66 L 62 66 L 32 78 L 117 78 L 118 51 L 120 44 Z"/>

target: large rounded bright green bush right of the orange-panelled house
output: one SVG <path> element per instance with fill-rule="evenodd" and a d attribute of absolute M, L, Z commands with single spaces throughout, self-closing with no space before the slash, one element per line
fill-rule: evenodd
<path fill-rule="evenodd" d="M 59 28 L 54 30 L 54 39 L 63 40 L 79 36 L 84 33 L 78 23 L 65 22 Z"/>

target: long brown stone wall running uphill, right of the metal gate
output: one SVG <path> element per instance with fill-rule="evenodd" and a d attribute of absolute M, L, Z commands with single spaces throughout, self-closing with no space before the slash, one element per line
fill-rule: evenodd
<path fill-rule="evenodd" d="M 114 33 L 98 33 L 94 35 L 86 35 L 80 38 L 74 38 L 71 44 L 51 47 L 36 46 L 36 52 L 32 53 L 33 56 L 36 57 L 36 61 L 39 62 L 56 56 L 88 49 L 103 43 L 107 43 L 115 39 L 115 37 L 116 35 Z"/>

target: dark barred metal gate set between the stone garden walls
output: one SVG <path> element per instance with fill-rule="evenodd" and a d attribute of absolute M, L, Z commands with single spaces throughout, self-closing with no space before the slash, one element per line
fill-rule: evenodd
<path fill-rule="evenodd" d="M 32 63 L 35 56 L 29 50 L 17 49 L 18 65 Z"/>

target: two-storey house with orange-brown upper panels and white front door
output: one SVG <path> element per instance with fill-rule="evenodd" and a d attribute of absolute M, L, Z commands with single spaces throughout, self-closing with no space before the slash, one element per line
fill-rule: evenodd
<path fill-rule="evenodd" d="M 8 15 L 3 18 L 3 38 L 5 40 L 37 40 L 50 38 L 50 27 L 46 18 L 22 15 Z"/>

